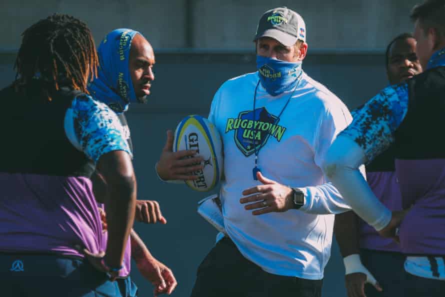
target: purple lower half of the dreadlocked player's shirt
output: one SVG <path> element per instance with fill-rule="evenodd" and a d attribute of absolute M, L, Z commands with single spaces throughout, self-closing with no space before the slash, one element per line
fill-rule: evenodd
<path fill-rule="evenodd" d="M 0 251 L 83 257 L 74 246 L 101 251 L 104 238 L 86 177 L 0 172 Z"/>

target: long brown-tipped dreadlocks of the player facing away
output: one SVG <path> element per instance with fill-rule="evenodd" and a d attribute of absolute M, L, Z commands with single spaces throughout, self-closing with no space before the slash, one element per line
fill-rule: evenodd
<path fill-rule="evenodd" d="M 97 77 L 98 59 L 91 31 L 70 15 L 53 14 L 22 33 L 14 68 L 14 86 L 25 90 L 33 79 L 43 82 L 42 92 L 70 86 L 88 93 L 86 85 Z"/>

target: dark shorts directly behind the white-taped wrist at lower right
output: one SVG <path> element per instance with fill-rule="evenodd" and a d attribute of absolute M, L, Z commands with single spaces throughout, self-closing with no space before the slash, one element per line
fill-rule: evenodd
<path fill-rule="evenodd" d="M 364 292 L 366 297 L 397 297 L 403 296 L 404 268 L 406 256 L 399 252 L 388 252 L 371 249 L 360 249 L 363 265 L 374 275 L 382 292 L 373 285 L 366 283 Z"/>

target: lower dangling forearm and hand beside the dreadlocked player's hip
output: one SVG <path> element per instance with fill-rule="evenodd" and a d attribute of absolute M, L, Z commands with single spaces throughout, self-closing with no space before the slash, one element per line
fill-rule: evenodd
<path fill-rule="evenodd" d="M 177 285 L 173 272 L 151 255 L 142 239 L 134 230 L 131 230 L 130 238 L 131 256 L 142 276 L 153 285 L 154 296 L 163 293 L 171 294 Z"/>

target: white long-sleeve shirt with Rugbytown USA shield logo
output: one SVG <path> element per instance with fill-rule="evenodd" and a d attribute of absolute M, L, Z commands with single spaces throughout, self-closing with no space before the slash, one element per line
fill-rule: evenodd
<path fill-rule="evenodd" d="M 326 213 L 349 206 L 320 167 L 327 148 L 351 116 L 334 94 L 303 72 L 279 119 L 291 92 L 271 96 L 259 85 L 253 122 L 257 82 L 256 72 L 226 81 L 214 95 L 208 116 L 224 145 L 220 196 L 225 229 L 240 252 L 265 271 L 321 279 L 330 256 L 334 219 Z M 252 177 L 252 135 L 260 139 L 262 174 L 305 193 L 300 209 L 254 216 L 240 204 L 241 192 L 259 184 Z"/>

